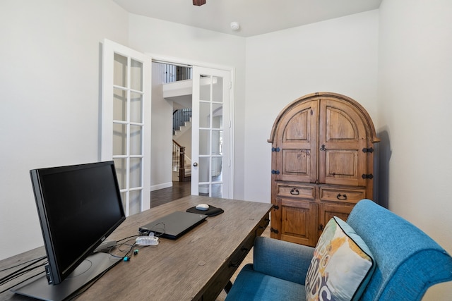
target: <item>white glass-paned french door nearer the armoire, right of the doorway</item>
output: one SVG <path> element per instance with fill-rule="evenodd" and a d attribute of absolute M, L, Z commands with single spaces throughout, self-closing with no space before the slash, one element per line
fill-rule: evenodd
<path fill-rule="evenodd" d="M 191 195 L 232 197 L 231 74 L 193 68 Z"/>

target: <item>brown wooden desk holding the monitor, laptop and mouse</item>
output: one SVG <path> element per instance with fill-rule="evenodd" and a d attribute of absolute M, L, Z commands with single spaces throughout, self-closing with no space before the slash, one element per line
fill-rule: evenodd
<path fill-rule="evenodd" d="M 77 300 L 215 300 L 268 225 L 271 204 L 191 195 L 129 216 L 109 238 L 121 240 L 173 211 L 206 203 L 225 210 L 178 240 L 162 238 L 120 262 Z M 45 254 L 44 247 L 4 259 L 0 270 Z M 0 278 L 11 271 L 0 272 Z M 18 282 L 20 279 L 16 280 Z M 13 283 L 4 285 L 4 290 Z M 9 291 L 0 300 L 29 300 Z"/>

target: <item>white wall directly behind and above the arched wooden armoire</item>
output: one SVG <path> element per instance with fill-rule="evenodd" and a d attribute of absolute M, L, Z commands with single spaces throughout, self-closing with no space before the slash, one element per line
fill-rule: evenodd
<path fill-rule="evenodd" d="M 278 113 L 312 92 L 362 104 L 376 123 L 378 11 L 246 39 L 245 199 L 270 202 L 271 145 Z"/>

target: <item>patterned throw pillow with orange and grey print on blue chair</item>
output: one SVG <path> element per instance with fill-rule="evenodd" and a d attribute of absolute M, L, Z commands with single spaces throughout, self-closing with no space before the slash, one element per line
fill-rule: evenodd
<path fill-rule="evenodd" d="M 345 221 L 328 221 L 306 276 L 306 300 L 358 300 L 374 272 L 372 254 Z"/>

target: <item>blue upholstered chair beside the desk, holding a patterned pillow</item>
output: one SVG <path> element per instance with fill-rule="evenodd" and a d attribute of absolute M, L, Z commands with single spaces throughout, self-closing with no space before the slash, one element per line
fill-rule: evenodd
<path fill-rule="evenodd" d="M 452 258 L 442 247 L 369 199 L 358 202 L 347 224 L 374 256 L 375 270 L 359 300 L 421 300 L 430 286 L 452 280 Z M 226 300 L 305 300 L 313 254 L 313 247 L 256 238 L 254 264 L 240 271 Z"/>

